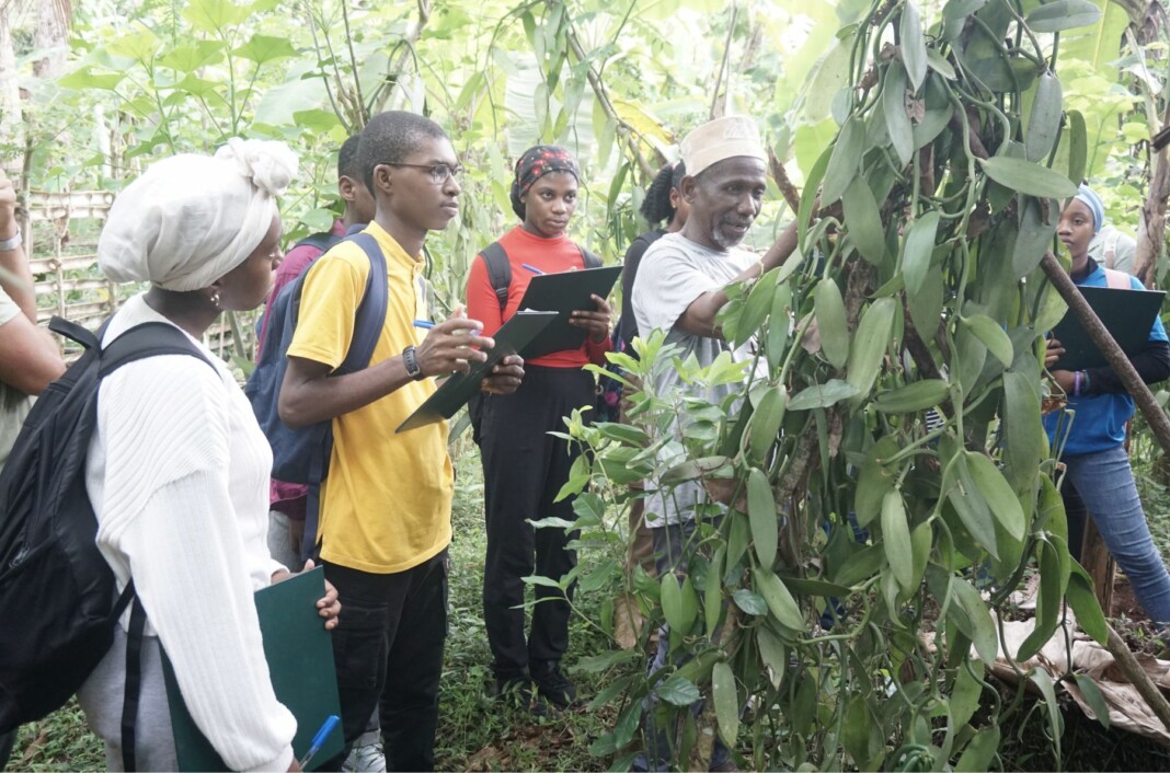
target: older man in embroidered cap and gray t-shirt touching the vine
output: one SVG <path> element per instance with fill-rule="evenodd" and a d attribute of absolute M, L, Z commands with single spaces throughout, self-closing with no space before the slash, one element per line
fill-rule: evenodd
<path fill-rule="evenodd" d="M 723 352 L 729 352 L 736 361 L 748 360 L 750 346 L 732 350 L 715 317 L 728 303 L 730 283 L 756 278 L 792 253 L 796 228 L 785 230 L 763 258 L 738 247 L 759 215 L 768 188 L 764 149 L 750 118 L 718 118 L 695 129 L 682 140 L 682 160 L 687 175 L 680 189 L 690 205 L 690 214 L 681 232 L 658 240 L 642 257 L 633 291 L 638 330 L 646 337 L 653 330 L 666 331 L 667 345 L 679 347 L 683 360 L 694 356 L 700 366 L 711 365 Z M 739 386 L 686 384 L 674 367 L 666 365 L 655 373 L 651 388 L 660 396 L 687 391 L 689 396 L 717 403 L 738 392 Z M 681 439 L 682 428 L 676 425 L 674 432 Z M 681 444 L 669 444 L 665 456 L 681 454 Z M 646 524 L 654 534 L 654 560 L 662 575 L 679 567 L 686 554 L 687 540 L 695 529 L 695 508 L 706 495 L 697 482 L 669 490 L 655 486 L 654 481 L 646 484 L 651 491 L 646 499 Z M 651 672 L 666 664 L 668 642 L 667 635 L 659 636 Z M 647 753 L 634 762 L 634 769 L 665 771 L 673 740 L 666 729 L 655 726 L 653 712 L 647 712 Z M 736 769 L 718 739 L 710 769 Z"/>

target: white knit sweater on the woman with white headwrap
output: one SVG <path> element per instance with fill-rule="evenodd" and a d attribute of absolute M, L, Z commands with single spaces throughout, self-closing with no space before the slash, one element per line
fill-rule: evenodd
<path fill-rule="evenodd" d="M 166 322 L 136 296 L 103 343 L 152 320 Z M 271 450 L 204 352 L 218 374 L 174 354 L 102 382 L 85 484 L 98 547 L 119 591 L 133 575 L 195 724 L 233 769 L 285 771 L 296 719 L 273 693 L 252 598 L 282 568 L 264 541 Z"/>

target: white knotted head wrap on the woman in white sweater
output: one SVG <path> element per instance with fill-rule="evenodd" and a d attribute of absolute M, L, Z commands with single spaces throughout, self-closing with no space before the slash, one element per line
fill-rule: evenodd
<path fill-rule="evenodd" d="M 97 242 L 102 271 L 177 292 L 211 287 L 264 239 L 296 165 L 284 143 L 235 137 L 214 157 L 154 164 L 110 208 Z"/>

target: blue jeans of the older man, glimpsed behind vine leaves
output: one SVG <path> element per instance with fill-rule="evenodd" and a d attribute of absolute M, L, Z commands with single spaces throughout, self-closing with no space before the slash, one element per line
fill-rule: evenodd
<path fill-rule="evenodd" d="M 675 572 L 676 574 L 683 575 L 687 573 L 686 561 L 689 559 L 690 553 L 694 551 L 693 538 L 695 538 L 695 522 L 684 520 L 681 524 L 667 524 L 663 526 L 654 526 L 651 529 L 654 536 L 654 566 L 658 570 L 658 577 L 663 577 L 667 572 Z M 709 579 L 708 581 L 713 581 Z M 670 628 L 663 624 L 659 628 L 659 644 L 658 651 L 654 653 L 654 660 L 651 662 L 649 672 L 661 670 L 666 667 L 667 662 L 670 660 Z M 656 722 L 656 709 L 659 704 L 658 695 L 651 692 L 649 696 L 642 702 L 642 715 L 645 718 L 642 733 L 646 737 L 646 752 L 639 754 L 634 760 L 634 771 L 668 771 L 670 769 L 670 750 L 674 746 L 674 739 L 668 727 L 659 726 Z M 690 711 L 694 715 L 698 715 L 703 709 L 703 702 L 697 700 L 690 705 Z M 731 752 L 728 750 L 723 739 L 718 736 L 715 737 L 715 745 L 711 748 L 711 761 L 710 767 L 718 768 L 731 759 Z M 687 765 L 687 760 L 679 760 L 682 766 Z"/>

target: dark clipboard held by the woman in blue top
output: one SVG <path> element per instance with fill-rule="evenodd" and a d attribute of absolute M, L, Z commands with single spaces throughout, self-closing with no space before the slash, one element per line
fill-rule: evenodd
<path fill-rule="evenodd" d="M 1165 292 L 1162 290 L 1115 290 L 1113 288 L 1078 287 L 1093 311 L 1101 318 L 1106 330 L 1114 337 L 1121 351 L 1133 357 L 1150 340 L 1154 320 L 1162 310 Z M 1053 337 L 1065 347 L 1060 360 L 1052 371 L 1083 371 L 1089 367 L 1106 367 L 1104 359 L 1093 339 L 1081 326 L 1072 311 L 1052 330 Z"/>

